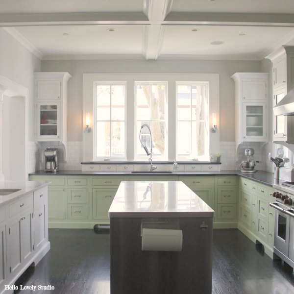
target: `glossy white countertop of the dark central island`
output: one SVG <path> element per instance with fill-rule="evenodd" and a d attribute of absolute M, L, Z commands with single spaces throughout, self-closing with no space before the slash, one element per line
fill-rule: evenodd
<path fill-rule="evenodd" d="M 211 218 L 214 210 L 180 181 L 123 181 L 110 218 Z"/>

